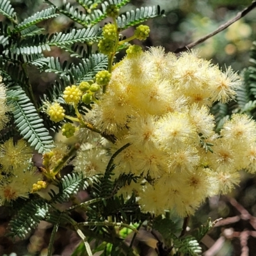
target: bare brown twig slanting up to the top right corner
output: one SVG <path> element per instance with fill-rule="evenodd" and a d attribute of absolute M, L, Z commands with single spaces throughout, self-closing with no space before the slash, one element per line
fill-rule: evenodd
<path fill-rule="evenodd" d="M 180 48 L 176 49 L 174 52 L 179 53 L 179 52 L 187 51 L 187 50 L 195 47 L 196 45 L 201 44 L 202 42 L 204 42 L 208 38 L 211 38 L 212 36 L 220 33 L 224 29 L 228 28 L 230 25 L 232 25 L 237 20 L 243 18 L 247 13 L 251 12 L 255 7 L 256 7 L 256 1 L 253 1 L 250 6 L 244 8 L 243 11 L 237 13 L 236 17 L 228 20 L 227 22 L 225 22 L 224 24 L 219 26 L 219 28 L 216 29 L 215 31 L 213 31 L 212 33 L 209 33 L 209 34 L 203 36 L 202 38 L 199 38 L 198 40 L 196 40 L 195 42 L 192 42 L 191 44 L 185 45 L 184 47 L 180 47 Z"/>

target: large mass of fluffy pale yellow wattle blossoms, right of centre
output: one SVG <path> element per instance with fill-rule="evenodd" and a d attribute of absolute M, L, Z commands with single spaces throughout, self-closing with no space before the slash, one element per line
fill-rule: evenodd
<path fill-rule="evenodd" d="M 209 113 L 214 102 L 234 99 L 240 83 L 231 68 L 222 72 L 195 52 L 177 58 L 161 47 L 130 53 L 114 66 L 90 121 L 115 136 L 111 152 L 131 143 L 115 158 L 115 173 L 140 176 L 123 191 L 136 193 L 142 211 L 193 214 L 207 196 L 238 184 L 239 170 L 256 172 L 255 122 L 236 114 L 217 134 Z M 104 172 L 102 150 L 81 150 L 75 170 Z"/>

